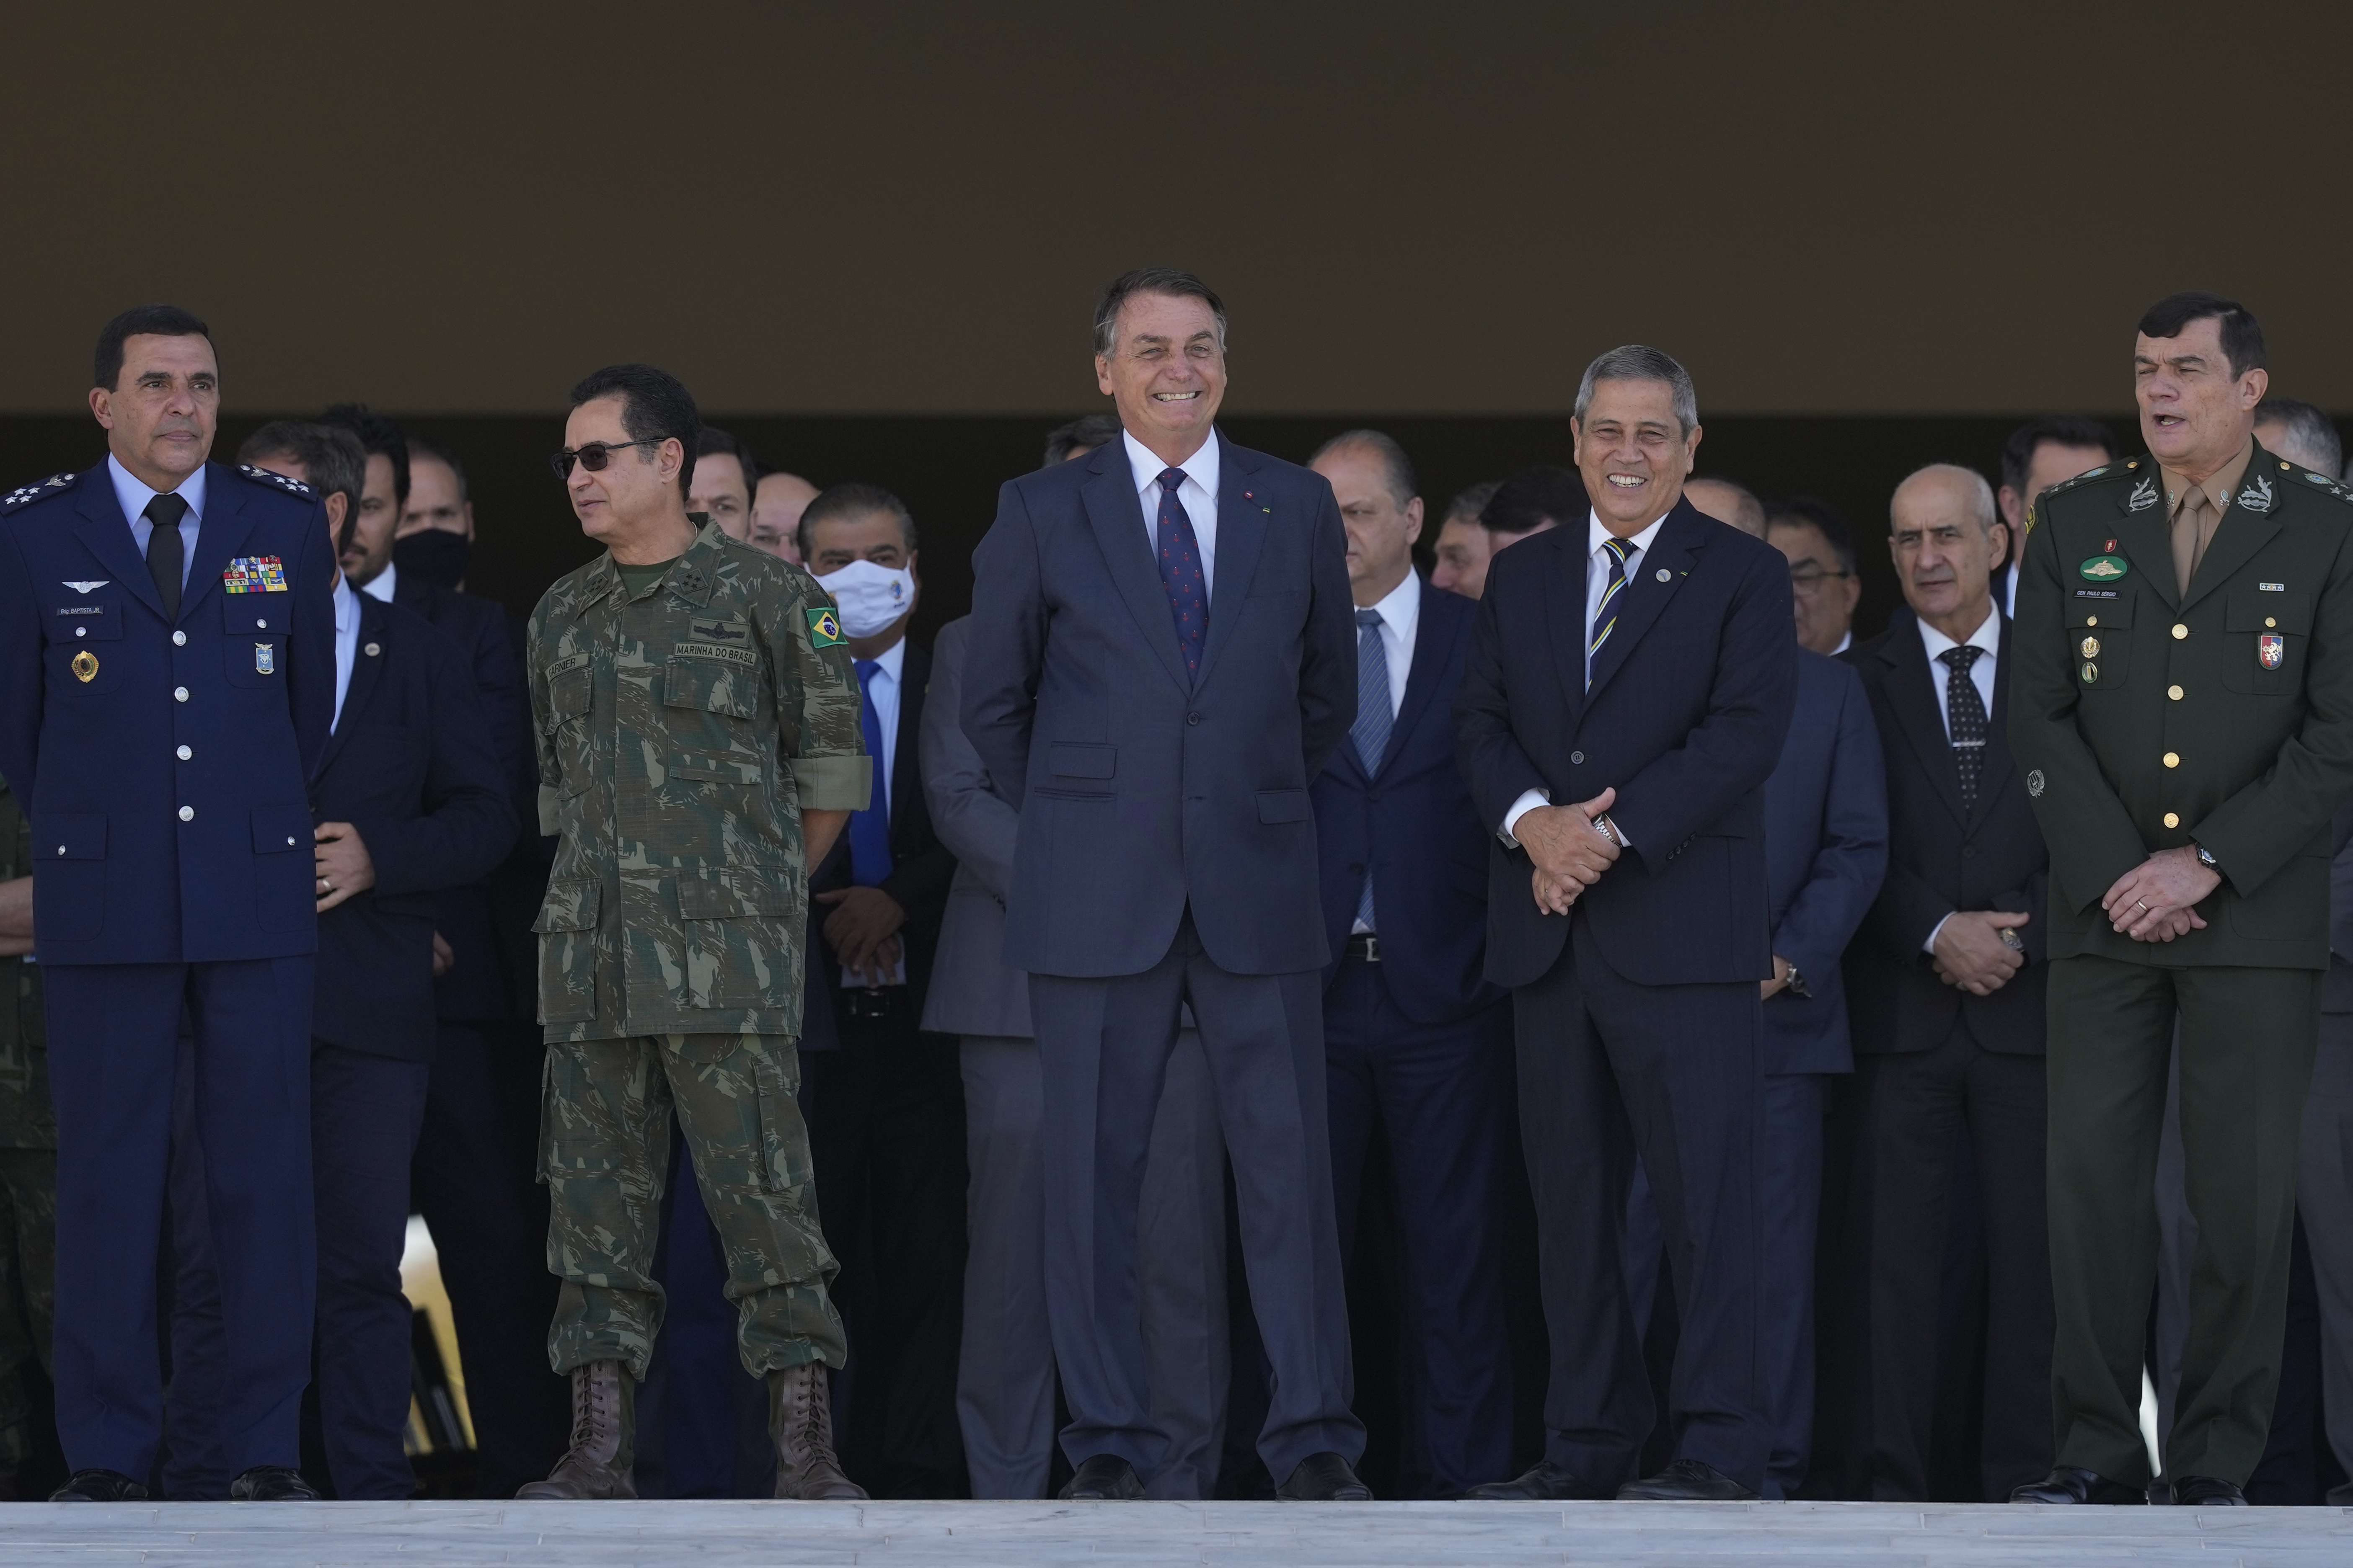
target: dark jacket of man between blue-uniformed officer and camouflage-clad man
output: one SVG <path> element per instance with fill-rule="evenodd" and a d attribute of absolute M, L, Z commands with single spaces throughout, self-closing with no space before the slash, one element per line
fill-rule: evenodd
<path fill-rule="evenodd" d="M 311 809 L 320 823 L 358 827 L 376 865 L 376 886 L 318 917 L 311 1032 L 428 1063 L 442 893 L 506 858 L 515 802 L 466 656 L 421 616 L 365 592 L 344 717 Z"/>

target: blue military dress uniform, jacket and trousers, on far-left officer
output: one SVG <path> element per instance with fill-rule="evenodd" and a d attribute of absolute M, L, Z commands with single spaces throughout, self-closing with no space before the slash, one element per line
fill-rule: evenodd
<path fill-rule="evenodd" d="M 132 1479 L 162 1429 L 155 1255 L 184 1016 L 233 1472 L 296 1462 L 311 1375 L 308 780 L 334 708 L 332 541 L 292 480 L 200 477 L 176 491 L 195 527 L 174 614 L 141 557 L 155 524 L 134 531 L 113 461 L 0 501 L 0 776 L 33 818 L 59 1121 L 56 1429 L 73 1469 Z"/>

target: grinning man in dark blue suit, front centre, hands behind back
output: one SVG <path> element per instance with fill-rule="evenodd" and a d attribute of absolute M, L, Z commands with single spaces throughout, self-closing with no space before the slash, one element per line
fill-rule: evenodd
<path fill-rule="evenodd" d="M 1285 1497 L 1367 1497 L 1325 1138 L 1308 780 L 1355 717 L 1332 487 L 1212 421 L 1226 310 L 1172 268 L 1094 313 L 1120 442 L 1012 480 L 974 552 L 965 733 L 1021 809 L 1005 961 L 1045 1070 L 1047 1312 L 1078 1474 L 1134 1497 L 1167 1439 L 1136 1324 L 1136 1206 L 1179 1011 L 1200 1023 L 1271 1368 Z"/>

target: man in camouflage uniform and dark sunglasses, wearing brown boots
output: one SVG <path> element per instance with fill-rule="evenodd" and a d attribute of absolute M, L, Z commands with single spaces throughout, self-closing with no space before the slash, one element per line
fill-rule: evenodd
<path fill-rule="evenodd" d="M 607 552 L 532 614 L 548 1359 L 572 1448 L 522 1497 L 631 1497 L 633 1389 L 661 1328 L 654 1241 L 675 1107 L 727 1251 L 744 1368 L 769 1385 L 779 1497 L 864 1497 L 833 1455 L 842 1324 L 800 1058 L 805 867 L 866 804 L 859 686 L 798 569 L 687 515 L 701 418 L 673 376 L 572 388 L 555 468 Z M 699 527 L 696 527 L 699 522 Z"/>

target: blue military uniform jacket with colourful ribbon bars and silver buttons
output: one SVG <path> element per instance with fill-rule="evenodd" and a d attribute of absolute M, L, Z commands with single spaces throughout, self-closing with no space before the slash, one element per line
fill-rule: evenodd
<path fill-rule="evenodd" d="M 254 557 L 285 588 L 228 592 Z M 33 813 L 42 964 L 318 945 L 306 785 L 334 712 L 332 564 L 306 487 L 207 463 L 167 621 L 104 463 L 0 508 L 0 776 Z"/>

